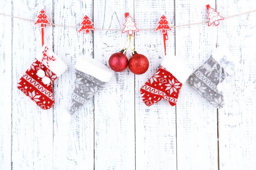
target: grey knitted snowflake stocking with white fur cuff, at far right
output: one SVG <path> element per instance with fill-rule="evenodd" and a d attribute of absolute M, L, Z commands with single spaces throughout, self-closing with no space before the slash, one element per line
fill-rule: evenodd
<path fill-rule="evenodd" d="M 188 79 L 192 88 L 216 108 L 224 106 L 222 82 L 234 71 L 235 65 L 231 60 L 226 51 L 217 49 Z"/>

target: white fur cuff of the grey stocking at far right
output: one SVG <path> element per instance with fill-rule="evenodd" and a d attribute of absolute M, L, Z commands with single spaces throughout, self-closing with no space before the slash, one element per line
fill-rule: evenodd
<path fill-rule="evenodd" d="M 218 47 L 217 49 L 215 49 L 215 51 L 212 53 L 212 57 L 214 58 L 214 60 L 216 60 L 223 68 L 224 70 L 231 75 L 234 72 L 234 67 L 237 65 L 236 60 L 234 58 L 234 56 L 232 56 L 229 51 L 227 49 L 224 49 L 222 47 Z M 230 64 L 223 64 L 223 62 L 232 62 L 234 64 L 234 66 L 230 65 Z"/>

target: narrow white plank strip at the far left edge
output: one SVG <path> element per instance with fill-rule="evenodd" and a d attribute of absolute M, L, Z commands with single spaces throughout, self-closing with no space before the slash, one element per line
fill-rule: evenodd
<path fill-rule="evenodd" d="M 11 1 L 0 3 L 11 15 Z M 11 169 L 11 18 L 0 16 L 0 169 Z M 4 80 L 4 81 L 3 81 Z"/>

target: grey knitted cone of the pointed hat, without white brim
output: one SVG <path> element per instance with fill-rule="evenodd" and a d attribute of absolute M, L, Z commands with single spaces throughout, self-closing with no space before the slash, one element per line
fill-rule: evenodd
<path fill-rule="evenodd" d="M 76 69 L 76 87 L 72 95 L 70 114 L 73 115 L 77 109 L 88 102 L 88 100 L 90 100 L 104 84 L 106 84 L 106 82 L 102 82 L 99 79 Z"/>

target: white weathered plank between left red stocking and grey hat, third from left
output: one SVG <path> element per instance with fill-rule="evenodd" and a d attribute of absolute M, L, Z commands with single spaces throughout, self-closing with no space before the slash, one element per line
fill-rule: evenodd
<path fill-rule="evenodd" d="M 86 14 L 92 18 L 92 0 L 68 2 L 54 1 L 54 22 L 76 25 Z M 92 34 L 79 33 L 79 29 L 55 26 L 54 52 L 68 65 L 68 70 L 56 80 L 54 93 L 54 164 L 56 170 L 93 170 L 94 167 L 94 122 L 93 100 L 72 115 L 70 123 L 63 124 L 63 112 L 71 106 L 74 90 L 76 59 L 92 57 Z"/>

